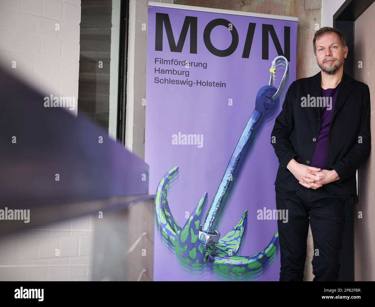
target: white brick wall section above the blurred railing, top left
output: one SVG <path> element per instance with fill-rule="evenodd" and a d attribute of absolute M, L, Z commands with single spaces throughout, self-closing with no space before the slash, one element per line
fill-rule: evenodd
<path fill-rule="evenodd" d="M 80 21 L 80 0 L 0 0 L 1 65 L 45 96 L 77 103 Z"/>

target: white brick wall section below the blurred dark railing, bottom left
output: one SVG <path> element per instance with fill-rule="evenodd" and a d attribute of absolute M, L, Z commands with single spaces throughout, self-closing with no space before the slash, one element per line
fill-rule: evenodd
<path fill-rule="evenodd" d="M 0 280 L 92 280 L 92 218 L 27 230 L 0 240 Z"/>

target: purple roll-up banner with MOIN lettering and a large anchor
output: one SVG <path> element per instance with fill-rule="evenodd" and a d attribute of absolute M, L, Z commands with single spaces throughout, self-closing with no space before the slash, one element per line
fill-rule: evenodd
<path fill-rule="evenodd" d="M 154 281 L 277 281 L 271 131 L 297 18 L 148 3 L 145 162 Z"/>

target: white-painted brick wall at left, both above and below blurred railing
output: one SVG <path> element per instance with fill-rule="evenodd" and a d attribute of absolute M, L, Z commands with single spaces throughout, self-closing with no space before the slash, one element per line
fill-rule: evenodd
<path fill-rule="evenodd" d="M 80 0 L 0 0 L 0 64 L 46 96 L 77 102 L 80 21 Z M 0 280 L 91 280 L 91 227 L 85 217 L 1 239 Z"/>

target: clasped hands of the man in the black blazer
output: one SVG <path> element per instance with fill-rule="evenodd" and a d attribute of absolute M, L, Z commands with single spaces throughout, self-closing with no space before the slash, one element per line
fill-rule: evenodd
<path fill-rule="evenodd" d="M 327 183 L 340 179 L 339 175 L 334 169 L 332 171 L 329 171 L 328 169 L 320 169 L 298 163 L 294 159 L 290 160 L 287 168 L 294 175 L 294 177 L 299 180 L 300 185 L 303 185 L 309 189 L 311 188 L 315 190 L 323 185 L 326 185 Z"/>

